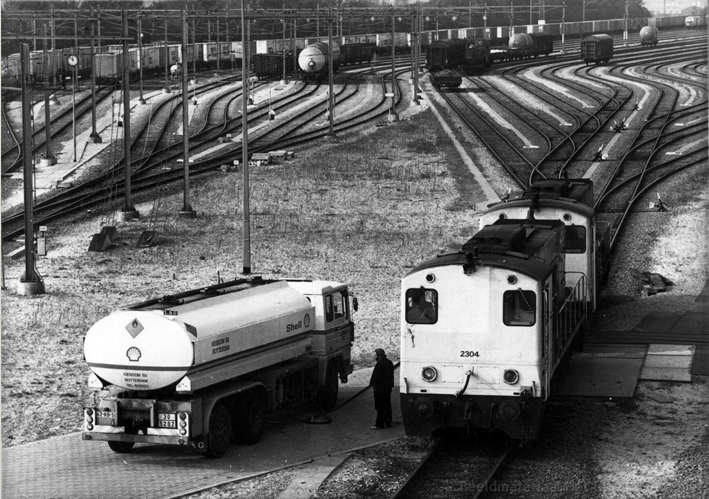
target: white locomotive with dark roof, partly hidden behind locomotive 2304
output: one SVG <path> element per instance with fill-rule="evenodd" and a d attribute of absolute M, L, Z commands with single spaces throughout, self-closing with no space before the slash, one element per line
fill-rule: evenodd
<path fill-rule="evenodd" d="M 533 216 L 564 223 L 566 286 L 586 284 L 586 298 L 596 309 L 596 293 L 608 250 L 608 226 L 598 226 L 593 209 L 593 181 L 590 179 L 545 179 L 533 182 L 520 196 L 488 207 L 480 217 L 481 228 L 498 220 Z M 597 242 L 603 242 L 599 245 Z"/>

